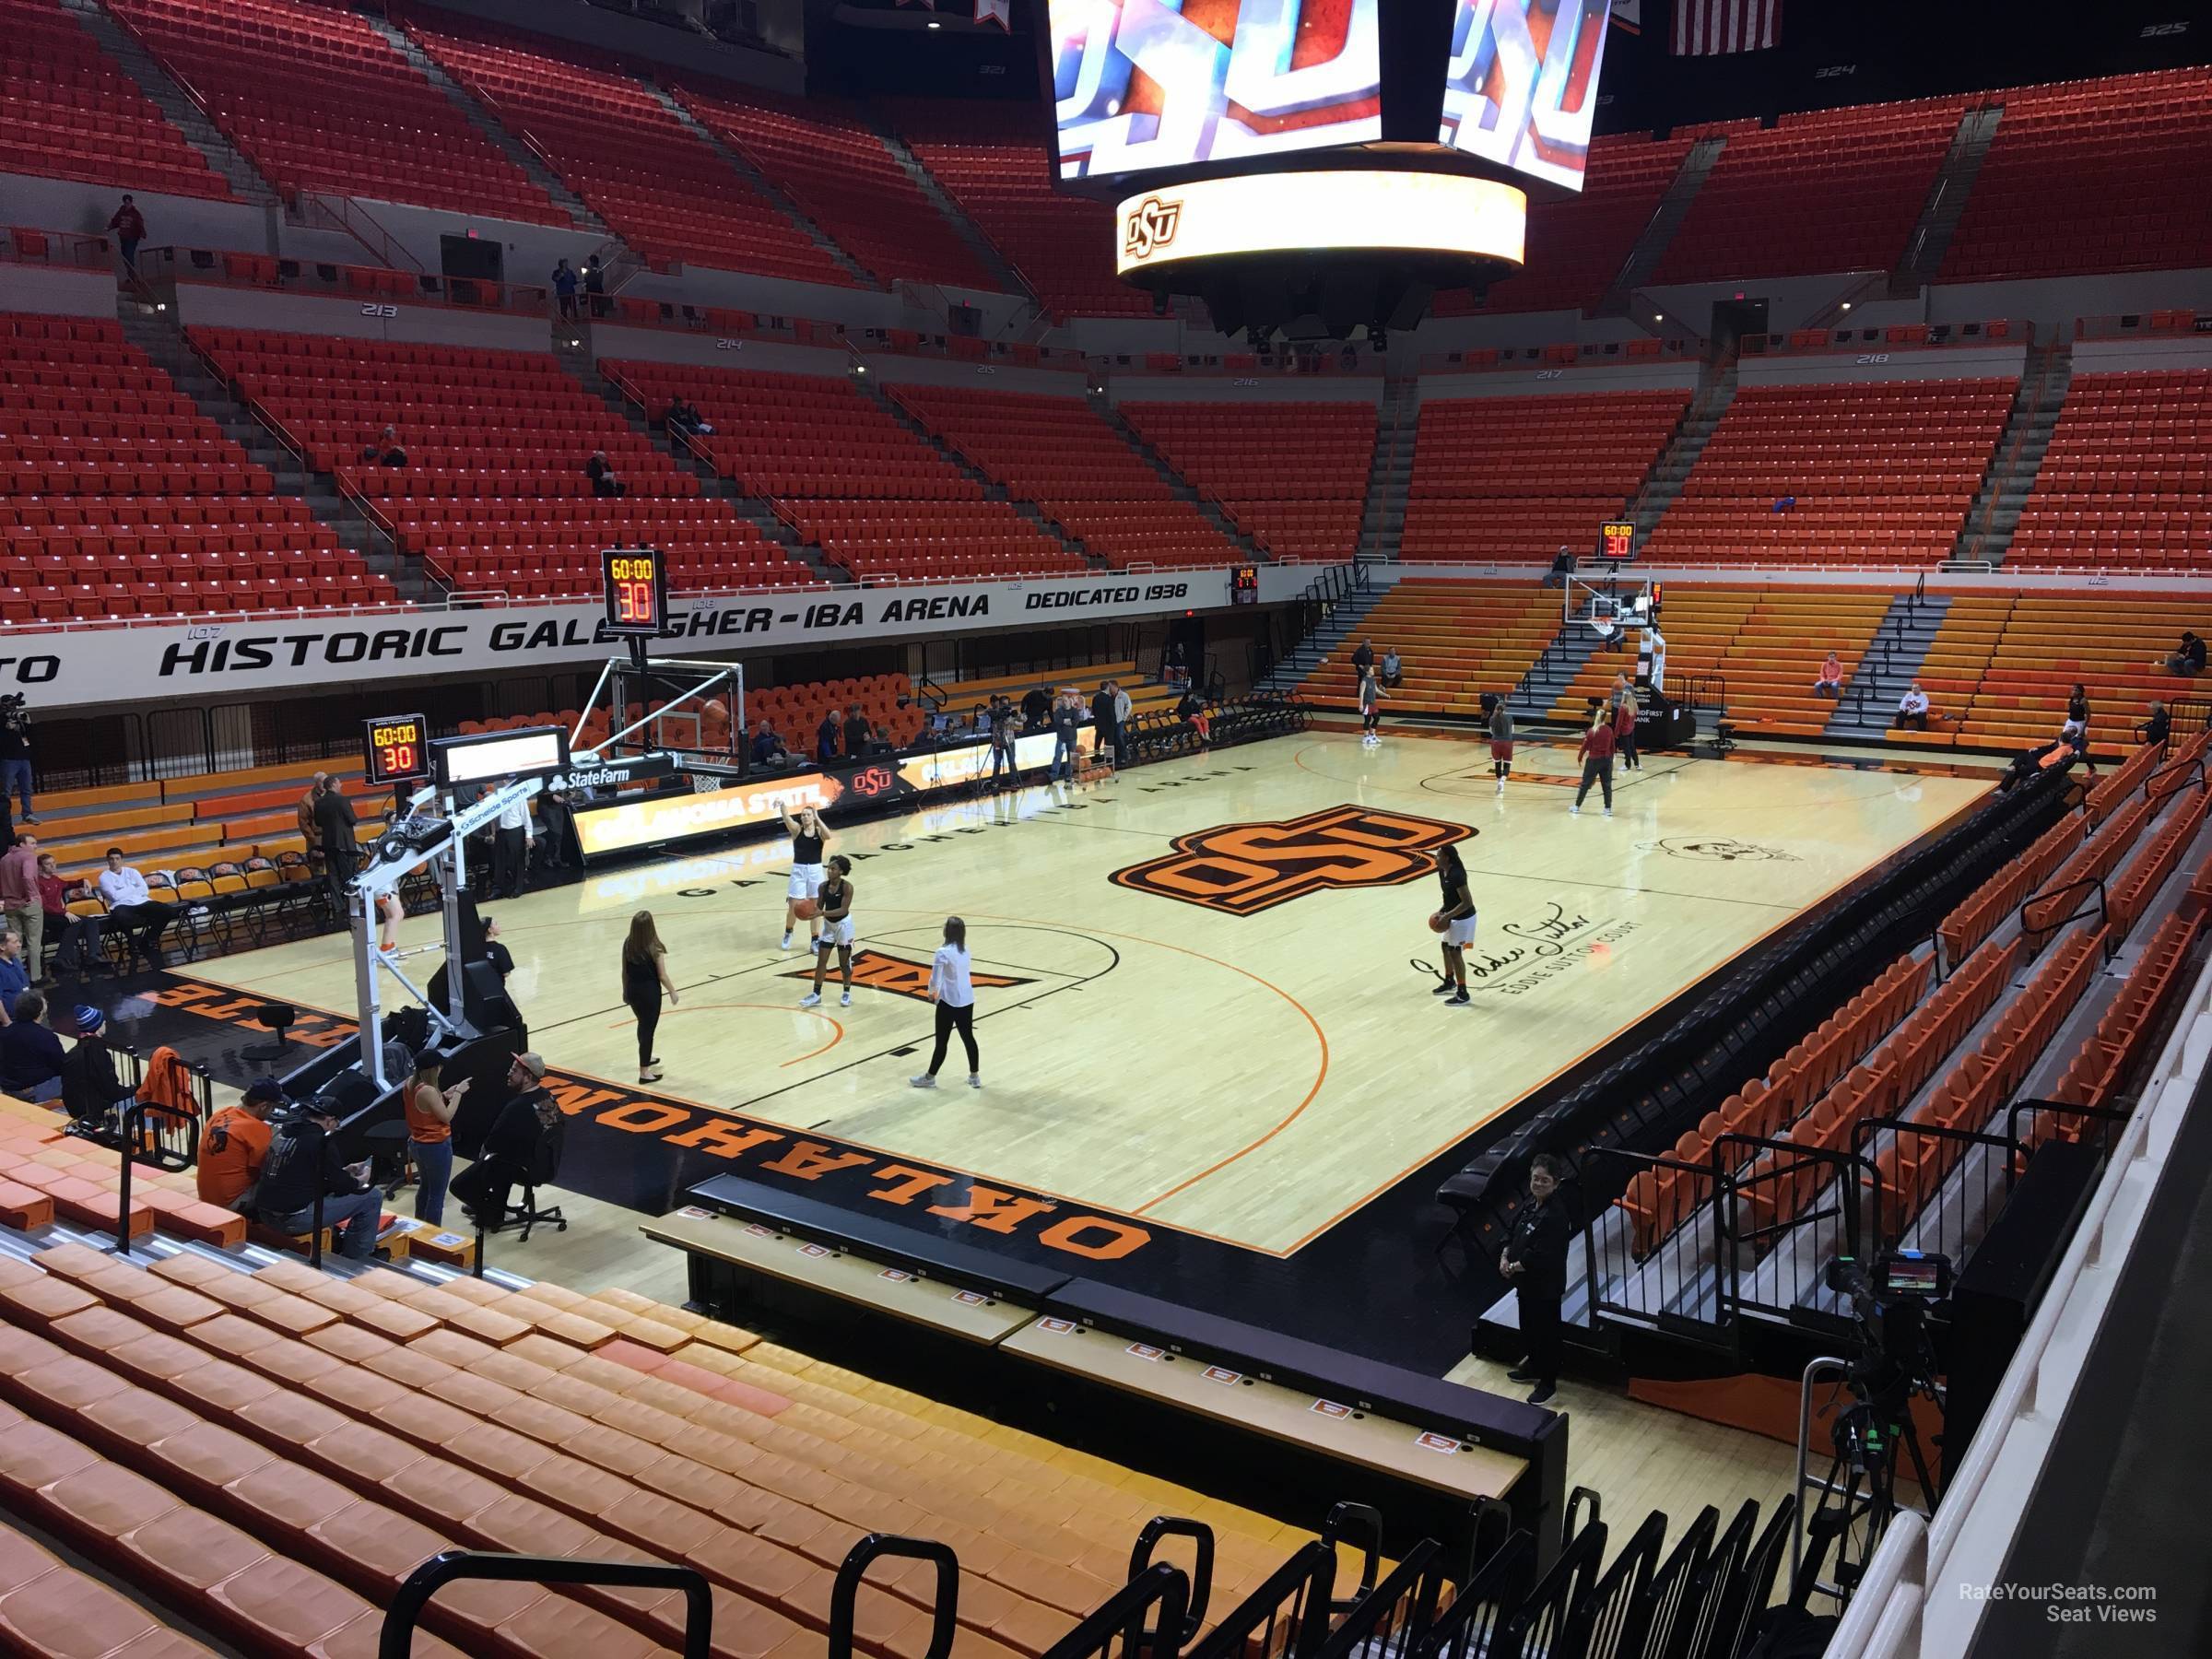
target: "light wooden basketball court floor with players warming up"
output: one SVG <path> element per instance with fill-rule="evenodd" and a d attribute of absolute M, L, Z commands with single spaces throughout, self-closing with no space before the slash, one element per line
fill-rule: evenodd
<path fill-rule="evenodd" d="M 745 1150 L 739 1119 L 810 1183 L 821 1170 L 790 1164 L 794 1148 L 876 1155 L 867 1197 L 911 1219 L 942 1181 L 931 1172 L 953 1170 L 1004 1188 L 989 1232 L 1013 1237 L 1024 1203 L 1086 1208 L 1281 1259 L 1993 785 L 1885 759 L 1652 754 L 1617 779 L 1613 818 L 1595 792 L 1577 818 L 1575 774 L 1573 748 L 1522 743 L 1500 796 L 1486 745 L 1460 734 L 1363 750 L 1356 732 L 1307 732 L 838 827 L 860 940 L 852 1006 L 834 971 L 823 1006 L 799 1006 L 807 953 L 776 947 L 783 841 L 593 872 L 484 911 L 515 956 L 531 1044 L 586 1088 L 564 1097 L 571 1121 L 588 1106 L 626 1133 L 582 1141 L 582 1157 L 571 1141 L 564 1186 L 666 1206 Z M 1431 995 L 1425 918 L 1447 841 L 1480 907 L 1464 1009 Z M 650 1088 L 635 1086 L 619 998 L 637 909 L 657 916 L 681 987 Z M 922 1093 L 907 1077 L 927 1064 L 947 914 L 969 925 L 984 1086 L 964 1086 L 953 1044 Z M 403 947 L 436 938 L 436 916 L 400 929 Z M 409 958 L 422 975 L 436 962 Z M 343 936 L 175 978 L 354 1006 Z"/>

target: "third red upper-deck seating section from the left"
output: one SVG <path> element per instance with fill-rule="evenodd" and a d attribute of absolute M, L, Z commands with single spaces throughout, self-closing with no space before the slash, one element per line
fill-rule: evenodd
<path fill-rule="evenodd" d="M 451 11 L 403 15 L 440 69 L 533 144 L 562 184 L 655 265 L 684 261 L 854 285 L 830 250 L 637 77 Z"/>

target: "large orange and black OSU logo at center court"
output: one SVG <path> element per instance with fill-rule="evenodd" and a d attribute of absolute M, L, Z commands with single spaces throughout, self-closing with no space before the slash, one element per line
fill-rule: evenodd
<path fill-rule="evenodd" d="M 1467 825 L 1374 807 L 1325 807 L 1285 823 L 1223 823 L 1175 838 L 1175 852 L 1117 869 L 1117 887 L 1254 916 L 1332 887 L 1400 887 L 1436 872 L 1438 847 Z"/>

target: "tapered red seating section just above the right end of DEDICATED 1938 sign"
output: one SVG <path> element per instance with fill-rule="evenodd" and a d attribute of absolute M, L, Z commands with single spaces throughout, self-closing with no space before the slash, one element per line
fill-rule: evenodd
<path fill-rule="evenodd" d="M 1371 403 L 1124 400 L 1159 458 L 1279 560 L 1349 560 L 1374 467 Z"/>

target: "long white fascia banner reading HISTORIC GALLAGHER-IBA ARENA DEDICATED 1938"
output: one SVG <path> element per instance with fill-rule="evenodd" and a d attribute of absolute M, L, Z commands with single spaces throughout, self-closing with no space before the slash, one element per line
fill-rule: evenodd
<path fill-rule="evenodd" d="M 1259 566 L 1261 602 L 1296 599 L 1312 564 Z M 1004 633 L 1060 622 L 1219 611 L 1230 566 L 1031 582 L 936 582 L 887 588 L 796 588 L 668 602 L 657 655 L 728 655 Z M 46 710 L 175 697 L 252 697 L 378 679 L 449 679 L 604 661 L 622 650 L 599 597 L 538 606 L 232 617 L 102 628 L 11 628 L 0 690 Z"/>

